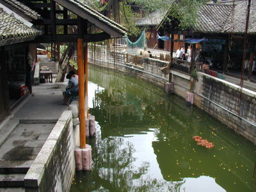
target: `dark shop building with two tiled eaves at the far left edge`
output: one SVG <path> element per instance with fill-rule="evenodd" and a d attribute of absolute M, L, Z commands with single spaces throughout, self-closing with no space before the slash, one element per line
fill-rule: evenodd
<path fill-rule="evenodd" d="M 31 23 L 40 15 L 27 6 L 0 1 L 0 7 L 1 121 L 31 91 L 30 72 L 36 60 L 36 47 L 31 41 L 41 32 Z"/>

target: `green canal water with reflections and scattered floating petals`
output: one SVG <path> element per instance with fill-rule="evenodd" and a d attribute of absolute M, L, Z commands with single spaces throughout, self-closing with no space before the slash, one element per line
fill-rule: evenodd
<path fill-rule="evenodd" d="M 253 191 L 252 143 L 140 79 L 90 67 L 89 80 L 93 170 L 76 172 L 70 191 Z"/>

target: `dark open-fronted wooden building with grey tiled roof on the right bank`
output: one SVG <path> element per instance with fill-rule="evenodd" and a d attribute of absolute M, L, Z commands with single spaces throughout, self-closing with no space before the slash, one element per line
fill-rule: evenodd
<path fill-rule="evenodd" d="M 247 8 L 248 0 L 218 0 L 216 3 L 207 3 L 200 8 L 195 26 L 179 30 L 177 22 L 170 23 L 163 19 L 157 29 L 173 35 L 184 35 L 186 38 L 207 38 L 207 41 L 200 43 L 197 47 L 195 55 L 201 51 L 205 61 L 211 63 L 213 70 L 240 77 Z M 172 16 L 166 13 L 166 17 Z M 256 2 L 252 1 L 244 63 L 244 74 L 251 81 L 256 80 L 255 17 Z"/>

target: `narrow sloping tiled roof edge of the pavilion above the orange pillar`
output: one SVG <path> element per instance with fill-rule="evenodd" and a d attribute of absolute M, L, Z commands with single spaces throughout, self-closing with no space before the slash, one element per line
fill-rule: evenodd
<path fill-rule="evenodd" d="M 120 24 L 116 23 L 115 21 L 109 19 L 108 17 L 105 17 L 101 13 L 93 10 L 87 4 L 84 4 L 78 0 L 66 0 L 66 1 L 68 1 L 72 4 L 75 4 L 76 6 L 81 8 L 84 12 L 87 12 L 90 15 L 93 15 L 95 18 L 99 19 L 101 22 L 104 22 L 108 26 L 111 26 L 111 28 L 115 29 L 116 31 L 123 33 L 123 34 L 127 33 L 128 29 L 124 28 L 123 26 L 121 26 Z"/>

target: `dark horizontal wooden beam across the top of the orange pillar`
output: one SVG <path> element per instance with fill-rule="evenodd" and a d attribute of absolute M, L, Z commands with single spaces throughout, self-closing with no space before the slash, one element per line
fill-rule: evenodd
<path fill-rule="evenodd" d="M 56 35 L 54 42 L 57 43 L 65 43 L 65 42 L 76 42 L 77 38 L 79 36 L 76 34 L 70 34 L 70 35 Z M 83 35 L 83 42 L 101 42 L 103 40 L 111 38 L 108 33 L 96 33 L 96 34 L 88 34 Z M 51 35 L 41 35 L 36 36 L 35 38 L 36 43 L 51 43 L 52 36 Z"/>

